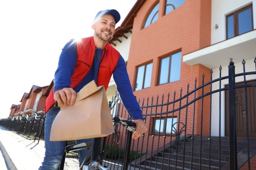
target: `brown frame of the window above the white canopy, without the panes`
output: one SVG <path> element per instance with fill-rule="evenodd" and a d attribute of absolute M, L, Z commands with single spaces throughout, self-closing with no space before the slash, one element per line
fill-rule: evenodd
<path fill-rule="evenodd" d="M 246 7 L 243 7 L 242 9 L 238 9 L 238 10 L 236 10 L 236 11 L 226 15 L 226 39 L 231 39 L 233 37 L 237 37 L 237 36 L 243 34 L 243 33 L 241 33 L 241 34 L 238 33 L 238 14 L 240 12 L 244 11 L 244 10 L 247 10 L 247 9 L 251 9 L 251 25 L 252 25 L 252 27 L 251 27 L 250 31 L 253 30 L 253 6 L 252 6 L 252 4 L 250 4 L 250 5 L 247 5 Z M 228 17 L 229 16 L 233 16 L 234 17 L 234 21 L 233 21 L 234 22 L 234 25 L 233 25 L 234 36 L 228 38 Z M 249 31 L 247 31 L 247 32 L 249 32 Z M 245 32 L 245 33 L 247 33 L 247 32 Z"/>

